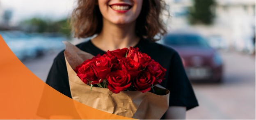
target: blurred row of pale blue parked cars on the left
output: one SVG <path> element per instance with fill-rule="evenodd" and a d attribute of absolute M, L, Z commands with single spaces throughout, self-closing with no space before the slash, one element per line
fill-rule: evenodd
<path fill-rule="evenodd" d="M 47 51 L 63 49 L 64 44 L 61 41 L 67 40 L 66 37 L 57 34 L 44 36 L 23 31 L 0 31 L 0 35 L 19 60 L 32 59 Z"/>

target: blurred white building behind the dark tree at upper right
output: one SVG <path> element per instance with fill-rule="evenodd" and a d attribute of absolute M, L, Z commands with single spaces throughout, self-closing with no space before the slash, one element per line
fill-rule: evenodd
<path fill-rule="evenodd" d="M 196 29 L 210 38 L 221 39 L 228 49 L 251 52 L 255 36 L 255 0 L 215 0 L 212 25 L 190 25 L 187 17 L 193 0 L 165 0 L 172 15 L 169 31 Z"/>

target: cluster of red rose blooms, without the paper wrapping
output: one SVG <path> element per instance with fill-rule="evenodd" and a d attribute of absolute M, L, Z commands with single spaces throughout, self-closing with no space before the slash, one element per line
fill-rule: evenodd
<path fill-rule="evenodd" d="M 121 91 L 150 91 L 164 80 L 164 69 L 138 48 L 130 47 L 107 51 L 80 64 L 74 71 L 91 87 L 108 88 L 113 93 Z"/>

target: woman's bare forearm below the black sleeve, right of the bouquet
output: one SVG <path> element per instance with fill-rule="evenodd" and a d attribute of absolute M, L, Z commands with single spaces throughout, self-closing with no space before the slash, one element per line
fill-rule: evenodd
<path fill-rule="evenodd" d="M 166 112 L 165 119 L 186 119 L 186 107 L 170 106 Z"/>

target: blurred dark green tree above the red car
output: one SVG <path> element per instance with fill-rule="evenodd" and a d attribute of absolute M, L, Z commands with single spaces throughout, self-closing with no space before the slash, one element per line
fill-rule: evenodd
<path fill-rule="evenodd" d="M 191 24 L 213 23 L 215 0 L 193 0 L 194 5 L 190 8 L 189 20 Z"/>

